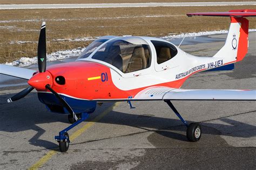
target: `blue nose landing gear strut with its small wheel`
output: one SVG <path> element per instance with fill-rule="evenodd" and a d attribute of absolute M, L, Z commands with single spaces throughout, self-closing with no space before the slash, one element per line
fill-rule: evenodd
<path fill-rule="evenodd" d="M 58 136 L 55 136 L 55 140 L 59 142 L 59 150 L 60 152 L 66 152 L 69 149 L 69 134 L 68 131 L 71 130 L 71 128 L 77 126 L 78 124 L 82 123 L 84 120 L 86 120 L 89 117 L 88 113 L 81 113 L 80 117 L 77 121 L 75 121 L 72 125 L 65 128 L 63 131 L 59 132 Z"/>

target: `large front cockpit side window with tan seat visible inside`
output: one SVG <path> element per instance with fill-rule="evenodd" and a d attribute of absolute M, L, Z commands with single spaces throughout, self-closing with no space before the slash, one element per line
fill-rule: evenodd
<path fill-rule="evenodd" d="M 141 39 L 138 40 L 142 42 Z M 92 59 L 109 63 L 120 71 L 129 73 L 150 66 L 151 55 L 149 49 L 147 44 L 133 44 L 126 40 L 113 39 L 100 47 L 92 56 Z"/>

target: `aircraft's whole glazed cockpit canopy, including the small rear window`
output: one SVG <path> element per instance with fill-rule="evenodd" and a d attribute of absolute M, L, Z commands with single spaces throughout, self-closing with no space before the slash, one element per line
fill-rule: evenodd
<path fill-rule="evenodd" d="M 171 43 L 156 38 L 150 42 L 156 50 L 153 56 L 156 57 L 157 64 L 165 63 L 177 55 L 177 49 Z M 82 58 L 108 63 L 123 73 L 130 73 L 150 67 L 152 51 L 143 37 L 105 36 L 87 46 L 78 57 L 78 59 Z"/>

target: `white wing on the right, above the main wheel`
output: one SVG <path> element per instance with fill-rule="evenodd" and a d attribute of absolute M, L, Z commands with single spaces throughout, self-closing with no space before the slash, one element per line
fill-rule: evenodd
<path fill-rule="evenodd" d="M 256 90 L 186 90 L 149 87 L 133 100 L 256 100 Z"/>

